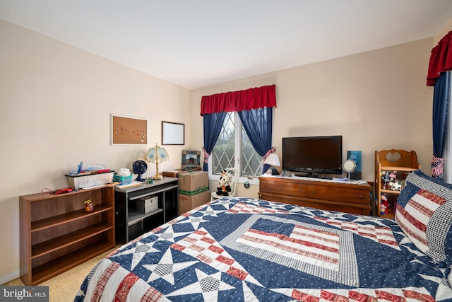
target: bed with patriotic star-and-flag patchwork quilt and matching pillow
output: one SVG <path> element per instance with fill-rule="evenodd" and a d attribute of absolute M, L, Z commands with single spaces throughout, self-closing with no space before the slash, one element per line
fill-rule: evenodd
<path fill-rule="evenodd" d="M 223 197 L 112 252 L 75 301 L 452 301 L 451 192 L 411 173 L 396 220 Z"/>

